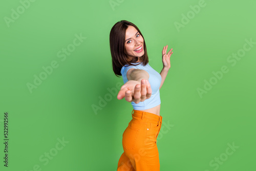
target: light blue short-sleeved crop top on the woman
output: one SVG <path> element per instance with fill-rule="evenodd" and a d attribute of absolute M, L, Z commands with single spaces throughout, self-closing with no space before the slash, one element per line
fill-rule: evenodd
<path fill-rule="evenodd" d="M 137 64 L 137 63 L 134 63 L 134 64 Z M 133 105 L 133 109 L 134 110 L 146 110 L 146 109 L 154 108 L 155 106 L 161 104 L 160 92 L 159 92 L 159 88 L 160 88 L 161 81 L 162 81 L 161 75 L 156 70 L 154 70 L 148 63 L 146 66 L 143 66 L 143 63 L 140 63 L 138 66 L 125 65 L 121 69 L 123 83 L 128 81 L 128 79 L 126 77 L 126 73 L 131 68 L 145 70 L 150 75 L 150 77 L 148 78 L 148 81 L 150 82 L 150 86 L 152 89 L 152 94 L 149 99 L 140 101 L 138 104 L 136 104 L 134 101 L 131 102 Z"/>

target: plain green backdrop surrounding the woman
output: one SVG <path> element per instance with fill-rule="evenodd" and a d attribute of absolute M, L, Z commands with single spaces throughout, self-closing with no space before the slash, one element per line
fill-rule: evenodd
<path fill-rule="evenodd" d="M 24 11 L 18 0 L 1 3 L 1 170 L 116 170 L 133 110 L 108 91 L 123 83 L 113 73 L 109 45 L 110 30 L 122 19 L 138 26 L 149 63 L 159 73 L 163 47 L 173 48 L 160 90 L 160 115 L 172 125 L 162 125 L 158 137 L 161 170 L 255 170 L 256 45 L 246 45 L 250 50 L 236 65 L 227 59 L 242 52 L 245 39 L 256 41 L 256 2 L 206 0 L 194 16 L 190 6 L 199 1 L 113 2 L 38 0 Z M 17 8 L 20 14 L 8 27 L 6 17 Z M 182 14 L 190 19 L 177 29 Z M 59 58 L 75 34 L 87 38 L 65 60 Z M 27 83 L 34 84 L 34 75 L 52 61 L 58 67 L 30 92 Z M 214 80 L 212 72 L 222 66 L 228 72 L 200 97 L 197 89 Z M 4 112 L 9 115 L 8 168 Z M 67 142 L 56 150 L 62 138 Z M 228 143 L 239 146 L 230 156 Z"/>

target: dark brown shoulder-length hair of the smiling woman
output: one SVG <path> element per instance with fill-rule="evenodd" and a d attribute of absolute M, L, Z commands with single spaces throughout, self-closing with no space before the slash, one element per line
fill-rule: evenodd
<path fill-rule="evenodd" d="M 128 26 L 133 26 L 135 27 L 136 30 L 140 33 L 140 35 L 143 37 L 141 34 L 139 28 L 135 26 L 133 23 L 128 22 L 126 20 L 121 20 L 120 22 L 117 22 L 111 29 L 110 31 L 110 51 L 111 51 L 111 56 L 112 56 L 112 66 L 113 66 L 113 71 L 117 77 L 121 76 L 121 69 L 124 65 L 128 66 L 137 66 L 134 65 L 138 60 L 138 57 L 134 58 L 131 61 L 128 61 L 127 55 L 124 53 L 124 40 L 125 40 L 125 32 Z M 144 37 L 143 37 L 144 39 Z M 145 39 L 143 40 L 144 44 L 144 55 L 141 56 L 141 63 L 143 63 L 143 66 L 147 65 L 148 63 L 148 56 L 147 56 L 147 51 L 146 51 L 146 44 L 145 44 Z M 118 76 L 119 75 L 119 76 Z"/>

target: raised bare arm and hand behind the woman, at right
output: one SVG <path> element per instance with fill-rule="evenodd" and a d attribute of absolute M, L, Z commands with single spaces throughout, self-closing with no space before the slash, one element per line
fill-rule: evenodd
<path fill-rule="evenodd" d="M 166 54 L 167 48 L 168 48 L 168 45 L 166 45 L 166 47 L 163 47 L 163 51 L 162 51 L 163 69 L 160 73 L 160 75 L 162 77 L 162 81 L 161 81 L 159 90 L 163 86 L 163 82 L 168 74 L 169 69 L 170 69 L 170 55 L 173 54 L 173 52 L 172 52 L 173 48 L 170 49 L 169 52 Z"/>

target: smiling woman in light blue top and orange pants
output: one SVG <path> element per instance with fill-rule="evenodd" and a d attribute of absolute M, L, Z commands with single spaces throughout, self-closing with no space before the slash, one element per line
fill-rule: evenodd
<path fill-rule="evenodd" d="M 157 136 L 162 125 L 160 93 L 170 69 L 167 47 L 162 51 L 163 69 L 159 74 L 148 64 L 144 38 L 131 22 L 121 20 L 110 32 L 113 71 L 122 76 L 123 86 L 117 98 L 132 102 L 132 120 L 123 133 L 124 153 L 118 161 L 121 170 L 160 170 Z"/>

